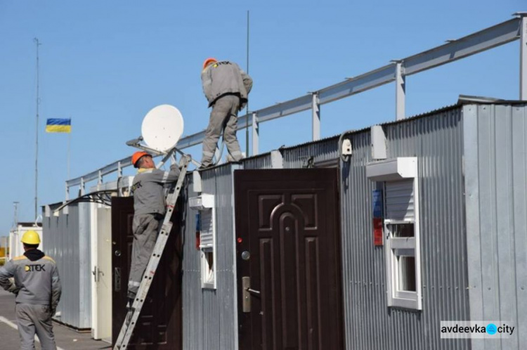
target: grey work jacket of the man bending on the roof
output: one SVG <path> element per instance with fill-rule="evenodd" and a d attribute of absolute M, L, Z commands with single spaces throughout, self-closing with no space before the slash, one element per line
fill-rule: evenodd
<path fill-rule="evenodd" d="M 240 97 L 240 109 L 248 101 L 252 79 L 233 62 L 221 61 L 205 67 L 201 73 L 203 92 L 209 107 L 221 96 L 232 94 Z"/>

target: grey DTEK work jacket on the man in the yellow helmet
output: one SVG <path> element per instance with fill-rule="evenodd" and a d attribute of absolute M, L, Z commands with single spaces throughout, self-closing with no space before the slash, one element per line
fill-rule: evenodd
<path fill-rule="evenodd" d="M 27 253 L 26 253 L 27 254 Z M 31 261 L 24 255 L 0 266 L 0 285 L 5 290 L 18 292 L 16 302 L 20 304 L 51 305 L 56 309 L 62 287 L 56 263 L 51 257 Z M 15 278 L 15 285 L 8 278 Z"/>

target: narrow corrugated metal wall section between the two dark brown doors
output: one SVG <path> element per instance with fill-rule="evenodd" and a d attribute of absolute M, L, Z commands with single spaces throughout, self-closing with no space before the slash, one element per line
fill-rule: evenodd
<path fill-rule="evenodd" d="M 233 168 L 202 171 L 203 193 L 216 195 L 216 290 L 202 290 L 195 214 L 187 209 L 183 259 L 183 349 L 238 349 L 235 288 Z M 193 193 L 188 186 L 188 195 Z"/>

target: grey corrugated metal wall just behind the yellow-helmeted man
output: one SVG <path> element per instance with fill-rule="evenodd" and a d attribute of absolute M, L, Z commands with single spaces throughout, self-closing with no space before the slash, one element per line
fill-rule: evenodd
<path fill-rule="evenodd" d="M 58 205 L 51 206 L 51 210 Z M 91 328 L 91 272 L 89 203 L 68 206 L 69 214 L 42 220 L 44 252 L 57 262 L 63 287 L 57 311 L 60 322 L 74 328 Z"/>

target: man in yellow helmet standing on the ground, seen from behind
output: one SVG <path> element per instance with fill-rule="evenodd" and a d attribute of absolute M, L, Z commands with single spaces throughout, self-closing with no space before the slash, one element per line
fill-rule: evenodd
<path fill-rule="evenodd" d="M 24 255 L 0 267 L 0 286 L 16 294 L 21 349 L 33 350 L 36 334 L 43 350 L 56 350 L 51 317 L 56 312 L 62 291 L 57 266 L 51 257 L 37 249 L 40 244 L 37 232 L 24 233 L 22 244 Z M 11 277 L 14 277 L 14 284 L 9 280 Z"/>

